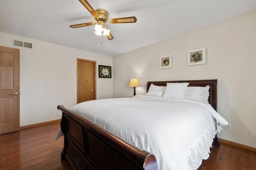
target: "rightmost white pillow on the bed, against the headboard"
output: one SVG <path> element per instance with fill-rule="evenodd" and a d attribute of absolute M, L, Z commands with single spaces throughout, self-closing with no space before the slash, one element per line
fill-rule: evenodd
<path fill-rule="evenodd" d="M 209 88 L 210 86 L 205 87 L 188 87 L 185 92 L 185 99 L 190 100 L 200 100 L 202 102 L 208 102 L 209 98 Z"/>

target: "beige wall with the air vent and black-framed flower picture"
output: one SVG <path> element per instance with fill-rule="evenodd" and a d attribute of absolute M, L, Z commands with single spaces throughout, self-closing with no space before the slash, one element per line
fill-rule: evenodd
<path fill-rule="evenodd" d="M 97 63 L 97 99 L 112 98 L 112 78 L 98 78 L 98 64 L 112 66 L 112 57 L 0 32 L 0 46 L 12 39 L 32 43 L 20 49 L 20 125 L 61 118 L 57 106 L 76 104 L 76 59 Z M 55 114 L 52 114 L 55 109 Z"/>

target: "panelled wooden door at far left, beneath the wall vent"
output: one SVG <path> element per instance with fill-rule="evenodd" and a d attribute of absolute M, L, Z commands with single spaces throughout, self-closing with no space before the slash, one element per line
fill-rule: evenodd
<path fill-rule="evenodd" d="M 0 46 L 0 134 L 20 130 L 20 50 Z"/>

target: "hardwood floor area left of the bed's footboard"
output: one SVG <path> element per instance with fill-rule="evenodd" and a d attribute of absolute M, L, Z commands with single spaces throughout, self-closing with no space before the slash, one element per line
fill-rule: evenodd
<path fill-rule="evenodd" d="M 60 123 L 0 135 L 0 170 L 70 170 L 60 160 L 63 137 L 55 141 Z"/>

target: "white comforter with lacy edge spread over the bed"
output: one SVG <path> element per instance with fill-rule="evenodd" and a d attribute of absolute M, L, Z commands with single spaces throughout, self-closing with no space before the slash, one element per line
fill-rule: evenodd
<path fill-rule="evenodd" d="M 220 125 L 228 124 L 210 104 L 142 95 L 92 100 L 71 110 L 153 153 L 159 170 L 196 170 Z"/>

